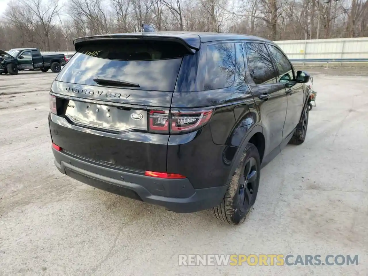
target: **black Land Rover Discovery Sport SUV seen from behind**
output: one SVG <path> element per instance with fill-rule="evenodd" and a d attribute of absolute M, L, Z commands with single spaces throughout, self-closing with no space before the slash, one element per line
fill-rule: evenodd
<path fill-rule="evenodd" d="M 143 32 L 74 45 L 50 91 L 52 150 L 93 187 L 239 224 L 261 167 L 305 139 L 309 75 L 269 40 Z"/>

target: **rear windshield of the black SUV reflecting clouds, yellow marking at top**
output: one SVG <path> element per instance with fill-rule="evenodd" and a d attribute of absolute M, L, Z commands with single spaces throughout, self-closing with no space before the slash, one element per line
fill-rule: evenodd
<path fill-rule="evenodd" d="M 174 42 L 115 40 L 82 46 L 57 81 L 97 85 L 105 77 L 139 84 L 125 89 L 174 91 L 185 48 Z"/>

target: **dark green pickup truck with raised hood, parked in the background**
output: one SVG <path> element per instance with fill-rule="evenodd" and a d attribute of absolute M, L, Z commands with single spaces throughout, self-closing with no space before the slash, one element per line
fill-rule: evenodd
<path fill-rule="evenodd" d="M 64 54 L 41 54 L 36 48 L 17 48 L 7 52 L 0 50 L 0 74 L 17 75 L 21 70 L 47 72 L 49 69 L 58 73 L 65 63 Z"/>

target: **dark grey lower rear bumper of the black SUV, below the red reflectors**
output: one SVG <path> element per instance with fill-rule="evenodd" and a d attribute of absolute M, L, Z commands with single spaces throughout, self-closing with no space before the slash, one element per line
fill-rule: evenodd
<path fill-rule="evenodd" d="M 162 179 L 141 172 L 123 171 L 53 149 L 55 165 L 63 174 L 101 190 L 151 204 L 177 213 L 191 213 L 217 206 L 227 186 L 194 189 L 185 179 Z"/>

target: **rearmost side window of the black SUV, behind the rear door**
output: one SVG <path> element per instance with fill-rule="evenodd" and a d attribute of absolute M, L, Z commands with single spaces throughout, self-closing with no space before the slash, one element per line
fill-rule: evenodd
<path fill-rule="evenodd" d="M 207 45 L 204 90 L 230 87 L 234 78 L 234 43 Z"/>

